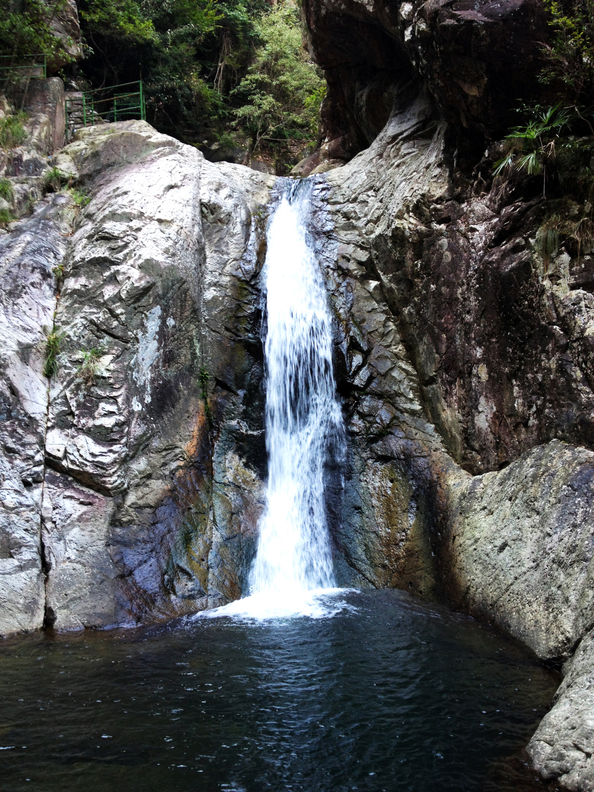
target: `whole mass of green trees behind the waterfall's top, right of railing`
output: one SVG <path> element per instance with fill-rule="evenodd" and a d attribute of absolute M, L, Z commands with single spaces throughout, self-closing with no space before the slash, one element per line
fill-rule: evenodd
<path fill-rule="evenodd" d="M 246 138 L 268 150 L 315 139 L 325 84 L 302 49 L 292 6 L 80 0 L 79 7 L 86 80 L 142 77 L 147 120 L 159 131 L 217 150 L 245 146 Z"/>

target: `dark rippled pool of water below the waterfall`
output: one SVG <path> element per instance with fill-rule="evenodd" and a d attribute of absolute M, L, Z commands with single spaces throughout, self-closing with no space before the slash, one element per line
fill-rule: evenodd
<path fill-rule="evenodd" d="M 509 757 L 556 675 L 402 592 L 343 598 L 331 619 L 0 643 L 0 789 L 543 790 Z"/>

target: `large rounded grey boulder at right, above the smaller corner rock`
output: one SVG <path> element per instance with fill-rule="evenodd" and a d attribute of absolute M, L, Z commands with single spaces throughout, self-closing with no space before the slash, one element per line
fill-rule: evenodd
<path fill-rule="evenodd" d="M 440 562 L 459 606 L 569 657 L 594 626 L 594 452 L 553 440 L 460 482 Z"/>

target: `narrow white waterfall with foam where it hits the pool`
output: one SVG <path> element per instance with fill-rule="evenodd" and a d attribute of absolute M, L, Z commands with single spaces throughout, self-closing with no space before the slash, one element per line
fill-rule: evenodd
<path fill-rule="evenodd" d="M 326 287 L 307 234 L 310 187 L 290 182 L 268 226 L 262 272 L 268 485 L 249 596 L 208 617 L 315 618 L 348 607 L 337 600 L 324 504 L 329 444 L 342 444 L 344 427 Z"/>

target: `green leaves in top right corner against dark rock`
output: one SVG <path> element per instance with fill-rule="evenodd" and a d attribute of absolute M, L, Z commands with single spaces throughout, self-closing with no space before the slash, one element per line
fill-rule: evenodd
<path fill-rule="evenodd" d="M 594 0 L 544 0 L 550 44 L 541 80 L 568 104 L 591 105 L 594 89 Z M 590 110 L 592 110 L 590 108 Z"/>

